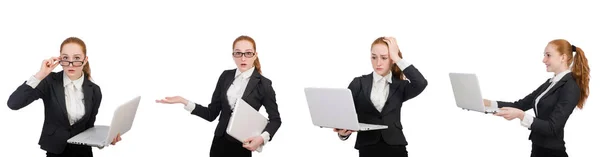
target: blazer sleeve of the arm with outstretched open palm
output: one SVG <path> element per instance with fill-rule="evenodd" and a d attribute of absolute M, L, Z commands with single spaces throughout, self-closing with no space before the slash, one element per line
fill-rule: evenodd
<path fill-rule="evenodd" d="M 221 90 L 223 88 L 221 84 L 224 83 L 223 81 L 225 80 L 225 72 L 226 71 L 223 71 L 223 73 L 221 73 L 221 76 L 219 77 L 219 81 L 217 82 L 217 86 L 215 87 L 215 91 L 213 92 L 213 96 L 210 104 L 208 104 L 208 107 L 196 104 L 196 107 L 192 111 L 192 114 L 200 116 L 209 122 L 212 122 L 215 119 L 217 119 L 217 117 L 221 113 L 222 108 Z"/>

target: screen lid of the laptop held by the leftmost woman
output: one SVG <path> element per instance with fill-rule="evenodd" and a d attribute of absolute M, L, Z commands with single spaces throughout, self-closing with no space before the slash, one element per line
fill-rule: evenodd
<path fill-rule="evenodd" d="M 131 126 L 133 125 L 133 119 L 135 118 L 137 108 L 140 104 L 140 99 L 141 96 L 136 96 L 135 98 L 117 107 L 113 115 L 112 122 L 110 123 L 108 136 L 106 137 L 105 141 L 106 145 L 112 142 L 112 139 L 117 137 L 117 134 L 123 136 L 123 134 L 127 133 L 131 129 Z"/>

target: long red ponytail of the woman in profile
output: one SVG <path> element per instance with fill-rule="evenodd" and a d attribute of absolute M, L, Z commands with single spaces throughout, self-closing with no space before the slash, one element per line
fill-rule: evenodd
<path fill-rule="evenodd" d="M 577 102 L 577 107 L 580 109 L 583 108 L 583 104 L 585 100 L 590 94 L 590 67 L 587 62 L 587 58 L 585 57 L 585 53 L 581 48 L 573 46 L 575 54 L 575 61 L 573 62 L 573 76 L 575 77 L 575 81 L 577 85 L 579 85 L 579 102 Z"/>

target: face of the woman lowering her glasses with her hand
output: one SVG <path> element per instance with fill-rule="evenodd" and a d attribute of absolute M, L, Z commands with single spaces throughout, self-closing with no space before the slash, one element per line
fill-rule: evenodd
<path fill-rule="evenodd" d="M 83 48 L 76 43 L 68 43 L 62 47 L 60 65 L 70 78 L 82 76 L 83 66 L 87 63 L 87 57 L 82 50 Z"/>

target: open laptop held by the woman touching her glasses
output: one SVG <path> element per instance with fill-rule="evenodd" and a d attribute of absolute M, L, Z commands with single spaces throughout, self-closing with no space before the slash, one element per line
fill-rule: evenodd
<path fill-rule="evenodd" d="M 123 136 L 131 129 L 133 119 L 140 104 L 141 96 L 117 107 L 110 126 L 96 125 L 67 140 L 71 144 L 88 145 L 98 148 L 109 146 L 117 134 Z"/>

